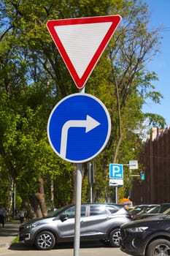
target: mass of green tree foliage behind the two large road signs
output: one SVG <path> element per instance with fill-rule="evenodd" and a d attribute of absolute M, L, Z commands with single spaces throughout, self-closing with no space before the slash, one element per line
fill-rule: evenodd
<path fill-rule="evenodd" d="M 18 198 L 36 216 L 47 214 L 47 208 L 75 200 L 75 165 L 54 154 L 46 127 L 53 106 L 77 89 L 46 23 L 63 18 L 122 15 L 120 26 L 85 88 L 104 102 L 112 119 L 107 148 L 94 159 L 93 184 L 93 200 L 109 200 L 109 163 L 123 164 L 138 157 L 146 118 L 149 124 L 165 125 L 161 116 L 142 113 L 147 99 L 160 103 L 162 98 L 152 84 L 158 79 L 155 72 L 145 69 L 160 43 L 158 29 L 147 29 L 147 5 L 138 0 L 2 0 L 0 7 L 0 180 L 9 186 L 12 178 Z M 128 170 L 125 176 L 120 194 L 130 186 Z M 7 198 L 5 188 L 0 200 Z M 82 200 L 89 200 L 86 165 L 82 192 Z"/>

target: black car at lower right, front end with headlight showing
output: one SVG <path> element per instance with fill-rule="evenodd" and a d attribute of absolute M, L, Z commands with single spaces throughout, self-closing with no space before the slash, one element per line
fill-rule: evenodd
<path fill-rule="evenodd" d="M 136 220 L 120 227 L 120 249 L 128 255 L 170 255 L 170 216 Z"/>

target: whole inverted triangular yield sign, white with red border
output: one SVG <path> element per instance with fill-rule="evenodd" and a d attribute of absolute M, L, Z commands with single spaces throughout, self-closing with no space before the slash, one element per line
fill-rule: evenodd
<path fill-rule="evenodd" d="M 120 15 L 109 15 L 47 22 L 47 29 L 78 89 L 85 86 L 120 20 Z"/>

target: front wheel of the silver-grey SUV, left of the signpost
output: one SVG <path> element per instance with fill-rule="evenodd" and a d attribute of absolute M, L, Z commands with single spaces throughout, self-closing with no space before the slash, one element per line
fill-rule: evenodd
<path fill-rule="evenodd" d="M 55 246 L 55 236 L 49 231 L 42 231 L 36 236 L 35 244 L 37 249 L 53 249 Z"/>

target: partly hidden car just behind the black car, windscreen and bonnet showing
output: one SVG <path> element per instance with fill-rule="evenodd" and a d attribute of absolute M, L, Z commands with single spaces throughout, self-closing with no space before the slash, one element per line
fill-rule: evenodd
<path fill-rule="evenodd" d="M 160 206 L 155 206 L 154 208 L 151 208 L 149 211 L 146 211 L 144 213 L 136 214 L 133 219 L 145 219 L 148 217 L 156 217 L 158 215 L 166 215 L 170 214 L 170 203 L 162 203 Z"/>

